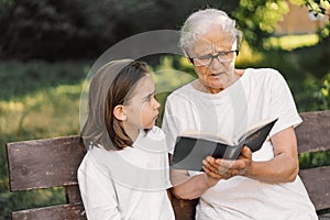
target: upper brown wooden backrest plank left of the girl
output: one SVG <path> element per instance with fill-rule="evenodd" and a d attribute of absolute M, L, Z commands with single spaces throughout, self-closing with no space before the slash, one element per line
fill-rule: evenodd
<path fill-rule="evenodd" d="M 8 143 L 10 190 L 76 185 L 85 153 L 77 135 Z"/>

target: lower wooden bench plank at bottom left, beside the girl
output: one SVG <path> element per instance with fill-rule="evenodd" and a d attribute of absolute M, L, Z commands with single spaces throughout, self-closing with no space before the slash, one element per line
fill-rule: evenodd
<path fill-rule="evenodd" d="M 86 220 L 86 213 L 81 204 L 61 205 L 46 208 L 14 211 L 12 220 Z"/>

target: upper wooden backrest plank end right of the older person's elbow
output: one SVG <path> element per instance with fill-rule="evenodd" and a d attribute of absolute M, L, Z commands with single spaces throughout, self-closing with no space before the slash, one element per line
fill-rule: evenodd
<path fill-rule="evenodd" d="M 304 122 L 297 127 L 299 153 L 330 150 L 330 111 L 300 114 Z"/>

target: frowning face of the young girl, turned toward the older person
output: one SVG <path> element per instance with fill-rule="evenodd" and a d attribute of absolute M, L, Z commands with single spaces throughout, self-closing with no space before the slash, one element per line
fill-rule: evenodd
<path fill-rule="evenodd" d="M 152 129 L 158 118 L 160 102 L 155 99 L 155 85 L 150 75 L 141 78 L 128 103 L 123 106 L 127 119 L 123 120 L 128 134 L 139 129 Z"/>

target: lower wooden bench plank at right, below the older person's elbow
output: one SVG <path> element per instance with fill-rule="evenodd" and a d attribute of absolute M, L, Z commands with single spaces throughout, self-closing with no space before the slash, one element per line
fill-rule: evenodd
<path fill-rule="evenodd" d="M 302 169 L 299 176 L 317 210 L 330 208 L 330 166 Z"/>

